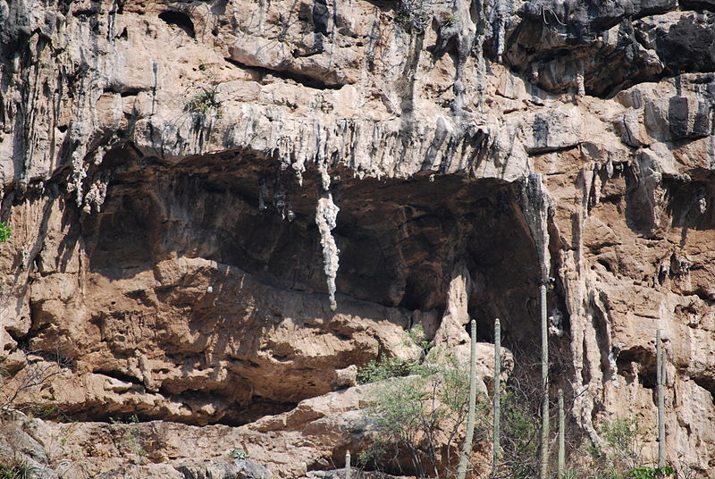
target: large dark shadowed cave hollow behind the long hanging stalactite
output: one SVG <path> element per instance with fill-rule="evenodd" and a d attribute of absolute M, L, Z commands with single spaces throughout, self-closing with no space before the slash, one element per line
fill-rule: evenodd
<path fill-rule="evenodd" d="M 273 159 L 247 151 L 172 163 L 142 157 L 130 147 L 109 152 L 103 167 L 113 171 L 105 203 L 100 213 L 82 219 L 88 267 L 93 273 L 121 282 L 150 272 L 170 258 L 198 257 L 245 272 L 266 288 L 310 298 L 327 296 L 315 225 L 321 188 L 318 172 L 309 170 L 299 181 L 290 168 L 282 169 Z M 462 264 L 470 275 L 468 311 L 477 321 L 477 339 L 492 341 L 493 320 L 499 317 L 502 344 L 526 354 L 538 350 L 534 340 L 540 337 L 540 271 L 518 182 L 429 172 L 408 180 L 357 179 L 336 168 L 331 191 L 340 207 L 332 231 L 340 248 L 336 313 L 349 313 L 350 305 L 359 301 L 402 315 L 419 310 L 441 317 L 452 271 Z M 212 289 L 228 291 L 229 286 L 220 282 Z M 187 285 L 182 288 L 189 290 Z M 188 315 L 196 329 L 237 324 L 233 316 L 238 315 L 238 300 L 219 307 L 182 288 L 158 287 L 156 297 Z M 141 290 L 125 295 L 145 307 L 152 304 L 149 296 Z M 550 298 L 559 300 L 555 294 Z M 123 308 L 116 315 L 126 315 L 126 304 Z M 280 304 L 268 308 L 256 314 L 282 317 Z M 100 329 L 110 328 L 109 321 L 134 321 L 123 316 L 112 319 L 112 315 L 111 310 L 105 311 L 91 321 Z M 161 326 L 153 327 L 161 334 Z M 348 338 L 338 329 L 332 333 Z M 174 360 L 202 363 L 205 344 L 189 345 L 176 338 L 165 343 L 166 354 Z M 113 348 L 121 357 L 131 354 L 129 347 L 114 344 Z M 274 359 L 289 362 L 293 357 L 287 351 Z M 328 389 L 306 373 L 305 390 L 264 397 L 257 376 L 271 373 L 262 365 L 247 366 L 244 363 L 251 361 L 245 357 L 229 354 L 227 360 L 241 363 L 232 371 L 231 385 L 207 382 L 201 386 L 202 393 L 231 404 L 221 419 L 226 424 L 244 424 L 289 409 Z M 334 367 L 348 366 L 341 364 L 346 361 L 338 359 Z M 361 366 L 366 359 L 353 356 L 350 361 Z M 197 394 L 181 381 L 164 382 L 162 392 L 178 400 Z"/>

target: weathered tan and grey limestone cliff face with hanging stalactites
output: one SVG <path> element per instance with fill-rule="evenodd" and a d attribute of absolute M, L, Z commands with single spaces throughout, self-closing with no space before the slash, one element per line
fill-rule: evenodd
<path fill-rule="evenodd" d="M 413 357 L 415 324 L 456 345 L 499 317 L 537 360 L 547 257 L 576 429 L 635 416 L 652 458 L 660 328 L 669 461 L 712 469 L 712 6 L 0 0 L 6 387 L 60 357 L 18 404 L 270 430 L 299 477 L 349 442 L 290 442 L 290 415 Z M 165 466 L 243 474 L 216 461 Z"/>

